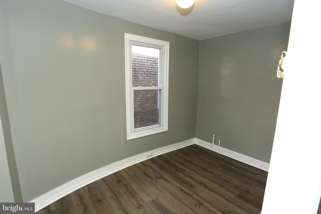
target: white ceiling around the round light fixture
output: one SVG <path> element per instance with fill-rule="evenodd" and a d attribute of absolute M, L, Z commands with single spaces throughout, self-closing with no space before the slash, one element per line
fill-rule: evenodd
<path fill-rule="evenodd" d="M 203 40 L 291 20 L 294 0 L 64 0 L 144 26 Z"/>

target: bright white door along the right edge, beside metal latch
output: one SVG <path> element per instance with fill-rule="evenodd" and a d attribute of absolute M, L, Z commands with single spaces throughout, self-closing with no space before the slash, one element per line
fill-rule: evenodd
<path fill-rule="evenodd" d="M 262 214 L 316 213 L 320 201 L 320 6 L 294 2 Z"/>

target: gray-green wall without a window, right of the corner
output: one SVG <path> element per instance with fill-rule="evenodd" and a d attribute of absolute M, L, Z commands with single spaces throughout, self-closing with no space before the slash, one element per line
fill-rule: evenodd
<path fill-rule="evenodd" d="M 269 162 L 290 23 L 200 41 L 196 137 Z"/>

